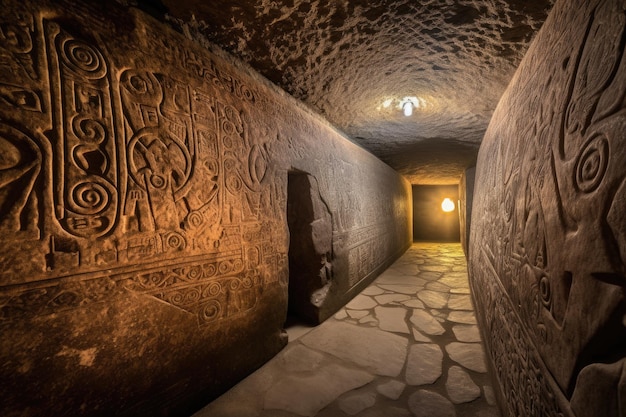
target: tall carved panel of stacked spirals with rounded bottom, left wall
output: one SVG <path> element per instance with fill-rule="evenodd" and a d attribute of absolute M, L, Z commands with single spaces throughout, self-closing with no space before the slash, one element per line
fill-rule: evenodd
<path fill-rule="evenodd" d="M 118 217 L 117 146 L 108 65 L 94 46 L 46 22 L 54 107 L 54 204 L 63 229 L 105 235 Z"/>

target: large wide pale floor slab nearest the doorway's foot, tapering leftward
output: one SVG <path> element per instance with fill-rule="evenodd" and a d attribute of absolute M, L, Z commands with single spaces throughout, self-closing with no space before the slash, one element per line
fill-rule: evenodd
<path fill-rule="evenodd" d="M 408 339 L 375 328 L 345 322 L 326 322 L 324 328 L 309 332 L 300 341 L 377 375 L 398 376 L 404 366 Z"/>

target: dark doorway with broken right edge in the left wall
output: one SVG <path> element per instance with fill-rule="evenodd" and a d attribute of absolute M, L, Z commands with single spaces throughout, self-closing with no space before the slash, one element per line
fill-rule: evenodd
<path fill-rule="evenodd" d="M 319 324 L 319 310 L 331 284 L 332 218 L 317 180 L 291 171 L 287 186 L 289 306 L 286 326 Z"/>

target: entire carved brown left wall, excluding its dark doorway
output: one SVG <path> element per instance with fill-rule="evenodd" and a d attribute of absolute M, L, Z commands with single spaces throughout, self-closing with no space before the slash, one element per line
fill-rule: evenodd
<path fill-rule="evenodd" d="M 143 12 L 3 2 L 1 414 L 185 415 L 273 356 L 295 171 L 323 320 L 410 244 L 404 179 Z"/>

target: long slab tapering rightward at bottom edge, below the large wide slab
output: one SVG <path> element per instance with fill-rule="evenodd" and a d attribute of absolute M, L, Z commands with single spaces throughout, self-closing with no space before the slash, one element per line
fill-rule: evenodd
<path fill-rule="evenodd" d="M 265 409 L 315 416 L 341 394 L 361 387 L 374 376 L 353 368 L 331 364 L 313 374 L 288 375 L 276 381 L 265 395 Z"/>

